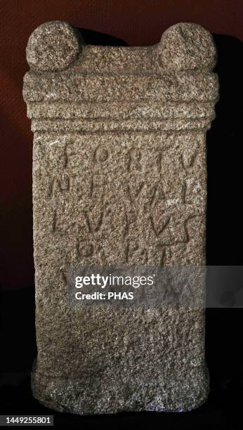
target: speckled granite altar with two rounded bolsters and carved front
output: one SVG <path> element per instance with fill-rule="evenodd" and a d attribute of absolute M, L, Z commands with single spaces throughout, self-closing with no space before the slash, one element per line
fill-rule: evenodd
<path fill-rule="evenodd" d="M 197 408 L 209 391 L 204 311 L 70 308 L 67 267 L 206 263 L 211 34 L 182 23 L 155 46 L 88 46 L 67 23 L 47 22 L 27 60 L 34 396 L 77 414 Z"/>

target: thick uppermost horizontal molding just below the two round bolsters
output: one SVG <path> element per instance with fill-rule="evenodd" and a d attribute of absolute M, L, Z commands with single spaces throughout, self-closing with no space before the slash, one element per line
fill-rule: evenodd
<path fill-rule="evenodd" d="M 155 75 L 100 75 L 70 72 L 28 72 L 24 78 L 25 101 L 112 102 L 153 100 L 168 102 L 216 101 L 218 78 L 214 73 Z"/>

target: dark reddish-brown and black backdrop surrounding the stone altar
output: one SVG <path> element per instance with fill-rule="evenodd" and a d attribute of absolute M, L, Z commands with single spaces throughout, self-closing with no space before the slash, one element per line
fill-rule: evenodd
<path fill-rule="evenodd" d="M 1 43 L 1 378 L 0 414 L 48 414 L 34 400 L 29 372 L 36 355 L 32 249 L 32 133 L 22 100 L 29 34 L 48 20 L 83 30 L 86 43 L 150 45 L 176 22 L 197 22 L 214 34 L 220 82 L 216 119 L 207 133 L 209 265 L 243 265 L 242 251 L 242 1 L 0 0 Z M 112 35 L 107 37 L 100 33 Z M 121 40 L 119 40 L 121 39 Z M 242 280 L 243 281 L 243 280 Z M 55 423 L 74 426 L 147 424 L 242 428 L 242 309 L 206 310 L 209 400 L 181 414 L 78 417 L 55 413 Z"/>

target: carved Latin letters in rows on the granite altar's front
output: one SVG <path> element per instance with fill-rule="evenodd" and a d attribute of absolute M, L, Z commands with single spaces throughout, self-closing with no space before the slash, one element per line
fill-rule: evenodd
<path fill-rule="evenodd" d="M 70 174 L 73 165 L 77 167 L 78 163 L 81 166 L 84 164 L 84 156 L 81 159 L 81 155 L 77 151 L 72 150 L 68 145 L 63 146 L 63 155 L 58 156 L 63 170 L 60 169 L 60 172 L 48 183 L 47 196 L 52 202 L 53 208 L 58 205 L 58 196 L 63 195 L 65 198 L 77 198 L 78 200 L 78 195 L 80 195 L 82 202 L 85 200 L 84 195 L 87 197 L 89 202 L 87 207 L 80 208 L 77 219 L 73 223 L 73 226 L 75 225 L 74 233 L 76 232 L 77 236 L 75 245 L 77 259 L 92 259 L 97 254 L 102 254 L 104 259 L 106 258 L 110 249 L 105 249 L 102 243 L 105 237 L 112 234 L 110 227 L 112 214 L 119 224 L 118 226 L 114 223 L 114 229 L 119 228 L 119 235 L 123 237 L 123 240 L 117 243 L 117 246 L 123 249 L 123 261 L 121 262 L 149 263 L 150 258 L 153 259 L 151 250 L 153 241 L 153 248 L 159 255 L 158 263 L 166 264 L 169 263 L 173 247 L 178 244 L 186 246 L 190 242 L 188 222 L 197 214 L 193 214 L 193 211 L 190 214 L 185 213 L 184 221 L 183 223 L 180 221 L 178 227 L 176 211 L 178 211 L 178 204 L 180 208 L 190 204 L 190 195 L 197 187 L 195 179 L 190 178 L 190 174 L 187 172 L 193 167 L 197 152 L 193 152 L 188 159 L 182 155 L 178 156 L 178 162 L 183 164 L 186 176 L 180 181 L 178 195 L 175 197 L 175 195 L 170 195 L 168 184 L 164 184 L 163 151 L 155 150 L 153 153 L 152 161 L 157 180 L 146 180 L 146 164 L 143 162 L 143 154 L 146 151 L 146 149 L 138 148 L 130 148 L 125 152 L 123 150 L 118 170 L 115 172 L 118 178 L 117 183 L 119 183 L 119 175 L 123 174 L 123 178 L 125 178 L 122 187 L 117 188 L 117 195 L 120 196 L 118 202 L 123 202 L 122 207 L 117 208 L 112 200 L 106 204 L 104 200 L 105 196 L 109 195 L 109 181 L 104 174 L 103 167 L 105 166 L 105 169 L 112 163 L 112 155 L 105 145 L 97 145 L 93 150 L 93 156 L 88 160 L 93 163 L 93 169 L 91 166 L 87 173 L 89 179 L 86 181 L 88 185 L 85 190 L 82 189 L 81 176 Z M 84 171 L 82 172 L 84 174 Z M 115 177 L 113 181 L 115 181 Z M 68 197 L 70 193 L 72 193 L 72 197 Z M 58 209 L 53 210 L 51 223 L 53 234 L 63 233 L 60 216 L 62 214 Z M 141 218 L 143 221 L 147 220 L 146 234 L 149 239 L 145 246 L 141 245 L 140 240 L 136 238 L 136 231 L 140 232 Z"/>

